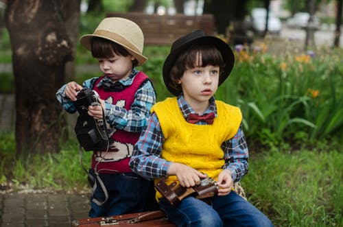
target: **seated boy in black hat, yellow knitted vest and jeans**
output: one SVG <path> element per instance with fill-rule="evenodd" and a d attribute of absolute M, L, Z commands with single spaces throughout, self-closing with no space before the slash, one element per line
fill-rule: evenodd
<path fill-rule="evenodd" d="M 182 187 L 194 187 L 206 176 L 216 180 L 217 195 L 206 201 L 188 196 L 172 206 L 156 193 L 160 208 L 178 226 L 272 226 L 232 191 L 248 172 L 241 111 L 213 95 L 233 64 L 233 52 L 220 38 L 196 30 L 176 40 L 163 66 L 165 86 L 176 97 L 152 107 L 134 146 L 130 167 L 144 178 L 167 177 L 166 184 Z"/>

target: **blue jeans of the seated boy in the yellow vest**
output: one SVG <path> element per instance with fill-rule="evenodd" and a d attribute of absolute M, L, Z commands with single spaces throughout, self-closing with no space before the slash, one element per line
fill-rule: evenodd
<path fill-rule="evenodd" d="M 171 206 L 162 198 L 160 208 L 177 226 L 273 226 L 268 217 L 234 191 L 215 196 L 208 203 L 189 196 L 177 206 Z"/>

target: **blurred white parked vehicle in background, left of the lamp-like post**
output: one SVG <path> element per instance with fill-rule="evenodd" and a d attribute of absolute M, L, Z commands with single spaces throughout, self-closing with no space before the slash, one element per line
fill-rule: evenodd
<path fill-rule="evenodd" d="M 265 17 L 267 11 L 265 8 L 255 8 L 251 12 L 251 25 L 252 29 L 257 33 L 263 33 L 265 30 Z M 281 32 L 281 21 L 275 16 L 273 12 L 268 14 L 268 32 L 272 34 L 280 34 Z"/>

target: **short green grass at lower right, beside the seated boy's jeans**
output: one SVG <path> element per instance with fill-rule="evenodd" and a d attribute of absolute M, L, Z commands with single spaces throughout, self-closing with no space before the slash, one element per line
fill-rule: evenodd
<path fill-rule="evenodd" d="M 254 155 L 242 186 L 274 226 L 342 226 L 342 152 Z"/>

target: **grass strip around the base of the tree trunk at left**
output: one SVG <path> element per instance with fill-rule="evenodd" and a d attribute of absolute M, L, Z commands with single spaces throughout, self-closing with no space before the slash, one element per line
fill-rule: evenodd
<path fill-rule="evenodd" d="M 81 191 L 87 189 L 85 173 L 78 162 L 78 143 L 62 144 L 58 154 L 15 156 L 14 133 L 0 135 L 0 184 L 16 189 L 54 189 Z M 90 165 L 91 152 L 83 154 L 82 162 Z"/>

